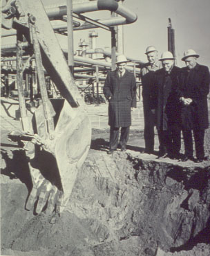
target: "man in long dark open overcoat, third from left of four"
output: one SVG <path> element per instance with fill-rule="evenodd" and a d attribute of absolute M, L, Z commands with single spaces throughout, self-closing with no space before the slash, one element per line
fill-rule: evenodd
<path fill-rule="evenodd" d="M 170 51 L 162 53 L 162 69 L 155 72 L 151 106 L 157 114 L 159 157 L 179 159 L 181 147 L 180 102 L 177 94 L 180 68 Z"/>

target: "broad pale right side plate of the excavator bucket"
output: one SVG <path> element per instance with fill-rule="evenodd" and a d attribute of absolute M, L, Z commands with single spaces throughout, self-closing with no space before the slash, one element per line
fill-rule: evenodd
<path fill-rule="evenodd" d="M 60 134 L 55 145 L 55 158 L 62 187 L 66 191 L 61 207 L 65 207 L 68 203 L 77 171 L 82 167 L 90 148 L 90 119 L 83 113 L 75 114 L 75 118 L 70 117 L 69 105 L 65 101 L 55 129 L 56 133 Z"/>

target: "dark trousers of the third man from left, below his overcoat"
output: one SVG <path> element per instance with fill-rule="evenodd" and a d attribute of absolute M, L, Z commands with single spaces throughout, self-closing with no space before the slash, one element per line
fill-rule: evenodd
<path fill-rule="evenodd" d="M 169 153 L 178 156 L 181 148 L 181 129 L 179 126 L 171 126 L 168 130 L 158 130 L 160 155 Z"/>

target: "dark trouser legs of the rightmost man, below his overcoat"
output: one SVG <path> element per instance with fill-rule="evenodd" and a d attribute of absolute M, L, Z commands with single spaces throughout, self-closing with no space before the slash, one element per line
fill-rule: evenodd
<path fill-rule="evenodd" d="M 204 157 L 204 129 L 182 130 L 184 138 L 184 154 L 193 157 L 193 137 L 195 139 L 195 155 L 197 158 Z"/>

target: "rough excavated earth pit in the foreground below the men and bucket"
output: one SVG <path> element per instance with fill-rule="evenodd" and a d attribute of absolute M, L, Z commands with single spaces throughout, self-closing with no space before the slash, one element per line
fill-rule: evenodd
<path fill-rule="evenodd" d="M 210 255 L 209 162 L 92 150 L 60 217 L 24 210 L 26 183 L 2 176 L 2 255 Z"/>

